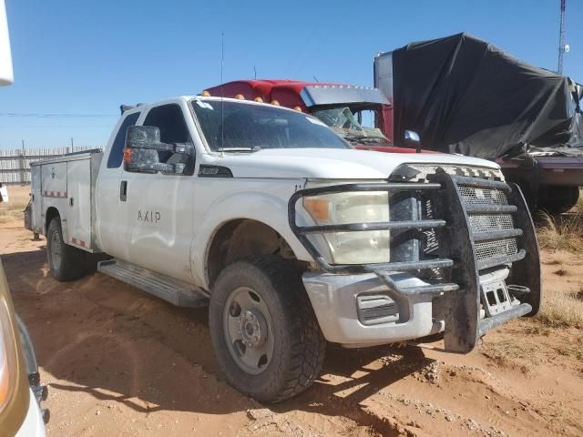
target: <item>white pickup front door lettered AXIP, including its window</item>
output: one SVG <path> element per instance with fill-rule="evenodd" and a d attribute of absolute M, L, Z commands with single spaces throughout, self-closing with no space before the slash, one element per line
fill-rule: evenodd
<path fill-rule="evenodd" d="M 159 127 L 162 142 L 191 142 L 178 104 L 152 107 L 142 124 Z M 171 152 L 159 152 L 160 162 L 172 159 Z M 120 211 L 125 224 L 125 253 L 120 258 L 176 279 L 192 279 L 194 157 L 190 161 L 182 175 L 122 171 L 120 186 L 126 199 L 120 202 Z"/>

